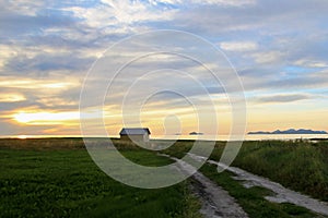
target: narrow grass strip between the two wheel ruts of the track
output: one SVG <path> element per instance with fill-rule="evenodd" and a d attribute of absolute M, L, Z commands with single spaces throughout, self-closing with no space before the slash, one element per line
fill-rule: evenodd
<path fill-rule="evenodd" d="M 238 204 L 251 218 L 270 218 L 270 217 L 315 217 L 309 210 L 292 204 L 277 204 L 266 201 L 263 197 L 272 193 L 262 187 L 244 187 L 238 181 L 231 178 L 230 172 L 218 173 L 216 167 L 204 165 L 201 172 L 223 186 L 230 195 L 235 197 Z"/>

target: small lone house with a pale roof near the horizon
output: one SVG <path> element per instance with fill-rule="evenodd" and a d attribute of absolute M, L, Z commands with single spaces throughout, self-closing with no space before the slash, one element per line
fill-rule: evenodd
<path fill-rule="evenodd" d="M 149 142 L 151 132 L 148 128 L 124 128 L 119 132 L 120 140 Z"/>

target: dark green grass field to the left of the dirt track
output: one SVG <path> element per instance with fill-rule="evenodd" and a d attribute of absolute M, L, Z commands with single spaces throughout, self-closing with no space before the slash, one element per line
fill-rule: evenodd
<path fill-rule="evenodd" d="M 199 217 L 200 204 L 188 181 L 156 190 L 130 187 L 102 172 L 81 140 L 30 143 L 2 141 L 0 217 Z M 171 162 L 154 153 L 119 146 L 138 164 Z"/>

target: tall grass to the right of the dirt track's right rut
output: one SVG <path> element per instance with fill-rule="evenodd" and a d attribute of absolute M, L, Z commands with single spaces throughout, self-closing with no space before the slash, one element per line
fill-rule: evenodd
<path fill-rule="evenodd" d="M 192 142 L 176 143 L 164 153 L 183 157 Z M 220 160 L 224 142 L 216 142 L 211 159 Z M 328 142 L 244 142 L 232 166 L 269 178 L 294 191 L 328 202 Z"/>

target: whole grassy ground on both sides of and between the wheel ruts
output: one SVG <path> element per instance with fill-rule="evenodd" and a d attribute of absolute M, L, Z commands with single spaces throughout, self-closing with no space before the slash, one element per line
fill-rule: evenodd
<path fill-rule="evenodd" d="M 101 138 L 95 142 L 106 146 Z M 140 165 L 172 161 L 127 142 L 114 143 Z M 220 159 L 224 145 L 216 143 L 212 159 Z M 183 157 L 191 146 L 191 141 L 179 141 L 164 153 Z M 245 142 L 233 165 L 327 201 L 327 142 Z M 157 190 L 124 185 L 95 166 L 81 138 L 0 140 L 0 217 L 200 217 L 200 203 L 189 190 L 192 180 Z M 201 172 L 250 217 L 314 216 L 291 204 L 269 203 L 263 199 L 268 190 L 245 189 L 213 166 L 204 165 Z"/>

